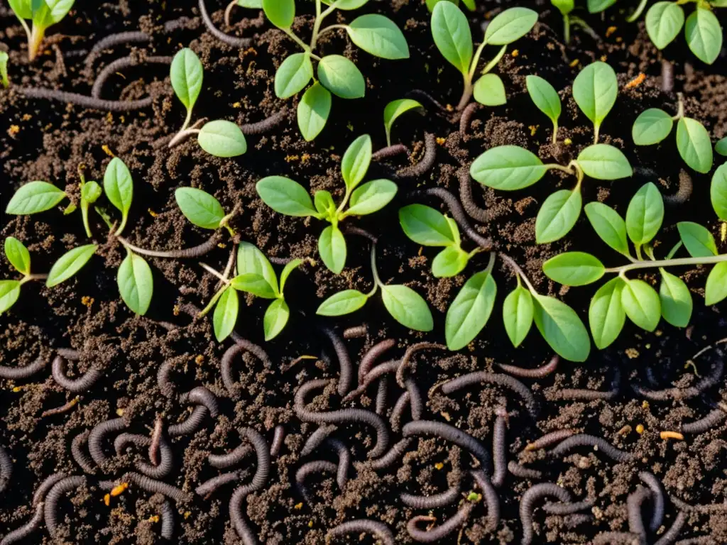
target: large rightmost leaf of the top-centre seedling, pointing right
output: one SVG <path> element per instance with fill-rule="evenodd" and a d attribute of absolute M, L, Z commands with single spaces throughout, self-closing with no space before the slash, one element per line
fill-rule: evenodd
<path fill-rule="evenodd" d="M 361 15 L 346 27 L 351 41 L 365 52 L 382 59 L 409 58 L 409 44 L 398 26 L 383 15 Z"/>

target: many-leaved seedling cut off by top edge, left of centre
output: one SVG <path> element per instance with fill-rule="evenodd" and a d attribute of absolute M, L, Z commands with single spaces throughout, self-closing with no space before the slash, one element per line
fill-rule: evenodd
<path fill-rule="evenodd" d="M 321 133 L 331 111 L 331 94 L 343 99 L 364 97 L 366 81 L 361 71 L 342 55 L 316 55 L 318 40 L 325 33 L 341 28 L 356 46 L 382 57 L 398 60 L 409 58 L 409 45 L 401 30 L 387 17 L 370 14 L 356 17 L 348 25 L 329 25 L 321 29 L 326 17 L 336 9 L 351 10 L 364 6 L 369 0 L 315 0 L 316 19 L 310 43 L 306 44 L 291 30 L 295 18 L 295 0 L 262 0 L 262 9 L 270 20 L 300 46 L 302 53 L 294 53 L 281 63 L 275 75 L 275 93 L 286 99 L 305 89 L 298 104 L 297 117 L 300 132 L 310 142 Z M 326 4 L 323 9 L 321 4 Z M 313 61 L 318 63 L 313 76 Z"/>

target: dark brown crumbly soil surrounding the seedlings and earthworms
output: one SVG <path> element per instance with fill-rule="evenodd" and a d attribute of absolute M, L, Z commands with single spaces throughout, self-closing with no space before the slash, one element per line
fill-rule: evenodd
<path fill-rule="evenodd" d="M 624 2 L 622 2 L 623 4 Z M 313 17 L 311 7 L 299 7 L 294 31 L 309 36 Z M 321 544 L 330 528 L 354 519 L 385 522 L 396 543 L 411 543 L 406 530 L 414 516 L 431 514 L 441 525 L 462 508 L 470 492 L 480 493 L 470 477 L 476 462 L 466 451 L 435 437 L 414 439 L 406 454 L 385 469 L 372 469 L 367 454 L 376 443 L 374 429 L 363 423 L 343 424 L 332 437 L 350 450 L 353 464 L 348 482 L 340 488 L 335 475 L 316 472 L 305 480 L 305 497 L 296 484 L 296 472 L 313 460 L 337 462 L 331 448 L 322 445 L 302 456 L 305 441 L 316 424 L 302 422 L 294 413 L 294 392 L 313 379 L 336 379 L 340 363 L 330 340 L 320 326 L 334 328 L 338 335 L 346 328 L 365 326 L 363 337 L 345 340 L 345 348 L 358 367 L 363 355 L 377 342 L 393 339 L 395 345 L 379 360 L 401 358 L 406 348 L 417 342 L 443 342 L 446 308 L 460 286 L 487 264 L 481 254 L 461 275 L 436 279 L 431 262 L 436 252 L 409 241 L 398 225 L 397 211 L 412 202 L 441 208 L 433 197 L 413 196 L 414 190 L 445 187 L 459 195 L 455 175 L 484 150 L 497 145 L 521 145 L 533 150 L 546 162 L 567 164 L 579 150 L 593 140 L 593 127 L 580 113 L 571 97 L 571 83 L 583 66 L 594 60 L 608 62 L 619 78 L 619 97 L 601 127 L 601 141 L 623 150 L 635 166 L 632 179 L 599 182 L 587 179 L 585 201 L 602 201 L 622 214 L 635 191 L 648 181 L 659 185 L 664 195 L 676 193 L 681 162 L 669 137 L 662 145 L 635 148 L 630 137 L 632 122 L 646 108 L 664 108 L 675 113 L 676 92 L 685 97 L 686 115 L 702 121 L 712 140 L 727 134 L 727 78 L 725 51 L 712 66 L 688 54 L 680 36 L 659 52 L 648 40 L 643 22 L 629 24 L 619 9 L 609 9 L 604 17 L 590 16 L 598 41 L 574 30 L 567 47 L 562 41 L 561 17 L 545 1 L 526 0 L 540 13 L 539 23 L 525 38 L 509 47 L 495 69 L 507 89 L 507 105 L 479 108 L 465 135 L 459 132 L 454 108 L 442 111 L 425 103 L 423 116 L 407 114 L 393 129 L 393 141 L 409 148 L 409 155 L 395 156 L 373 163 L 367 179 L 395 179 L 396 172 L 414 165 L 425 151 L 425 133 L 437 137 L 436 160 L 432 169 L 418 177 L 397 179 L 399 190 L 393 203 L 371 217 L 350 219 L 348 223 L 368 230 L 379 238 L 379 271 L 384 282 L 403 283 L 414 288 L 432 307 L 434 331 L 421 334 L 396 323 L 385 311 L 379 297 L 353 315 L 321 318 L 315 315 L 321 300 L 345 288 L 369 291 L 370 242 L 350 234 L 348 262 L 341 275 L 322 265 L 316 249 L 321 224 L 315 220 L 284 217 L 265 206 L 254 190 L 262 177 L 279 174 L 296 179 L 310 190 L 329 190 L 340 198 L 344 185 L 340 161 L 345 148 L 360 134 L 368 133 L 374 149 L 385 146 L 382 111 L 390 100 L 403 97 L 412 89 L 422 89 L 444 105 L 456 105 L 461 92 L 461 77 L 447 64 L 433 45 L 429 15 L 419 0 L 371 1 L 355 14 L 336 12 L 338 22 L 351 20 L 364 12 L 382 12 L 403 29 L 411 49 L 408 61 L 387 61 L 371 57 L 353 47 L 342 31 L 324 36 L 321 51 L 344 52 L 366 76 L 366 97 L 356 101 L 334 99 L 331 121 L 315 142 L 300 137 L 295 121 L 297 98 L 278 100 L 273 92 L 273 76 L 286 55 L 296 52 L 295 44 L 281 31 L 272 28 L 257 10 L 233 11 L 232 28 L 222 21 L 224 5 L 209 1 L 208 9 L 218 28 L 234 36 L 253 37 L 252 45 L 233 48 L 206 31 L 196 2 L 76 1 L 71 15 L 49 31 L 39 59 L 28 64 L 25 33 L 6 7 L 0 8 L 0 49 L 9 51 L 10 73 L 14 86 L 40 86 L 90 95 L 95 77 L 109 62 L 132 55 L 138 65 L 116 73 L 106 82 L 102 96 L 109 100 L 134 100 L 153 97 L 148 108 L 127 113 L 89 110 L 63 102 L 29 99 L 14 91 L 0 91 L 0 195 L 1 208 L 13 191 L 31 180 L 42 179 L 65 188 L 79 198 L 79 165 L 87 179 L 102 179 L 111 154 L 124 160 L 134 177 L 134 201 L 125 236 L 145 249 L 166 250 L 196 246 L 209 232 L 191 225 L 174 201 L 177 187 L 200 187 L 214 194 L 226 210 L 237 209 L 231 222 L 241 240 L 257 245 L 266 255 L 281 259 L 311 258 L 294 272 L 286 296 L 292 309 L 291 320 L 273 342 L 262 338 L 262 315 L 267 306 L 261 299 L 243 298 L 236 331 L 268 352 L 271 366 L 252 354 L 236 357 L 233 377 L 239 395 L 232 397 L 222 383 L 220 363 L 232 339 L 218 343 L 209 318 L 193 318 L 188 304 L 204 307 L 217 288 L 217 279 L 205 273 L 197 259 L 149 259 L 153 268 L 155 291 L 145 317 L 130 312 L 120 301 L 116 268 L 125 256 L 121 244 L 108 237 L 108 229 L 97 214 L 92 217 L 94 240 L 100 251 L 72 280 L 55 288 L 31 282 L 23 286 L 20 300 L 0 317 L 0 360 L 4 366 L 26 366 L 37 358 L 46 365 L 28 379 L 0 379 L 0 446 L 9 453 L 13 471 L 9 485 L 0 496 L 0 536 L 25 524 L 35 508 L 32 496 L 49 475 L 86 475 L 81 488 L 66 494 L 57 504 L 58 528 L 51 538 L 44 524 L 26 539 L 27 543 L 108 543 L 150 544 L 160 542 L 161 496 L 130 485 L 105 504 L 103 480 L 119 483 L 126 472 L 148 459 L 145 448 L 130 448 L 113 456 L 113 437 L 103 445 L 110 461 L 84 472 L 71 456 L 74 437 L 108 419 L 123 416 L 125 432 L 150 435 L 161 416 L 164 427 L 178 424 L 190 416 L 193 405 L 182 403 L 179 395 L 193 387 L 204 386 L 217 397 L 220 414 L 207 415 L 201 427 L 190 435 L 170 440 L 174 469 L 165 483 L 190 493 L 188 501 L 172 501 L 174 540 L 184 544 L 238 543 L 230 525 L 228 504 L 236 486 L 228 483 L 209 497 L 197 496 L 200 483 L 230 469 L 214 469 L 207 461 L 210 453 L 221 454 L 241 444 L 238 429 L 252 427 L 268 443 L 273 429 L 285 430 L 284 444 L 273 456 L 265 486 L 243 501 L 241 517 L 261 543 Z M 628 4 L 628 3 L 626 3 Z M 481 39 L 481 25 L 510 3 L 479 0 L 475 13 L 467 12 L 475 41 Z M 724 11 L 724 10 L 723 10 Z M 183 19 L 180 20 L 180 17 Z M 246 17 L 246 18 L 245 18 Z M 164 23 L 179 20 L 174 28 Z M 332 23 L 335 21 L 332 21 Z M 723 21 L 723 24 L 726 23 Z M 87 55 L 105 36 L 121 31 L 145 31 L 148 43 L 121 44 L 98 54 Z M 182 105 L 173 96 L 168 68 L 147 64 L 150 55 L 174 55 L 180 47 L 191 47 L 204 64 L 204 86 L 194 110 L 195 118 L 225 118 L 238 124 L 261 121 L 280 110 L 286 117 L 268 132 L 248 137 L 248 152 L 239 158 L 214 158 L 189 140 L 169 150 L 166 142 L 177 132 L 184 119 Z M 497 48 L 486 48 L 487 60 Z M 674 90 L 662 91 L 662 58 L 672 62 Z M 646 75 L 638 85 L 628 83 L 640 73 Z M 534 108 L 525 90 L 525 76 L 537 74 L 550 81 L 561 94 L 564 111 L 558 144 L 550 143 L 550 121 Z M 565 145 L 563 141 L 570 139 Z M 718 160 L 718 157 L 717 157 Z M 716 165 L 715 165 L 716 166 Z M 709 206 L 709 175 L 689 171 L 694 182 L 691 197 L 678 206 L 667 206 L 661 244 L 656 253 L 666 254 L 678 240 L 675 224 L 691 220 L 707 225 L 718 241 L 720 252 L 727 251 L 720 238 L 720 225 Z M 473 182 L 474 183 L 474 182 Z M 537 245 L 534 222 L 539 204 L 555 188 L 571 187 L 572 177 L 549 173 L 537 185 L 515 193 L 483 189 L 474 183 L 478 206 L 494 211 L 486 225 L 471 220 L 482 235 L 492 238 L 501 251 L 517 261 L 542 294 L 558 296 L 587 320 L 590 296 L 595 288 L 563 288 L 545 278 L 542 263 L 567 249 L 592 251 L 607 266 L 620 265 L 619 256 L 598 241 L 585 215 L 570 235 L 552 244 Z M 106 205 L 104 205 L 106 206 Z M 111 211 L 111 207 L 109 207 Z M 4 215 L 2 238 L 15 236 L 31 251 L 33 271 L 46 272 L 55 259 L 74 246 L 87 243 L 79 212 L 64 216 L 61 206 L 32 217 Z M 475 246 L 465 241 L 467 249 Z M 201 258 L 214 269 L 224 270 L 233 241 L 225 233 L 217 249 Z M 276 267 L 281 270 L 281 267 Z M 414 356 L 409 376 L 417 383 L 426 405 L 422 418 L 449 423 L 481 440 L 491 448 L 497 410 L 509 411 L 506 432 L 507 460 L 521 461 L 542 472 L 539 478 L 515 477 L 510 473 L 499 487 L 501 520 L 495 530 L 487 528 L 488 509 L 477 501 L 470 517 L 441 543 L 518 543 L 523 534 L 519 506 L 523 493 L 537 483 L 558 483 L 576 501 L 590 499 L 589 517 L 574 518 L 534 512 L 535 543 L 585 544 L 604 531 L 626 532 L 627 497 L 640 485 L 639 472 L 649 471 L 662 481 L 669 496 L 691 506 L 679 536 L 705 536 L 700 543 L 727 542 L 727 466 L 724 463 L 724 420 L 700 434 L 684 440 L 662 440 L 659 432 L 678 431 L 683 422 L 702 418 L 723 400 L 724 381 L 705 389 L 696 397 L 657 401 L 646 400 L 632 389 L 636 384 L 647 389 L 677 387 L 685 389 L 700 377 L 715 372 L 721 357 L 715 345 L 726 336 L 724 304 L 704 307 L 704 280 L 707 270 L 678 270 L 694 294 L 694 315 L 688 328 L 659 324 L 653 333 L 627 325 L 619 339 L 607 350 L 593 347 L 585 363 L 561 361 L 554 373 L 541 379 L 522 379 L 539 400 L 536 418 L 529 415 L 523 400 L 510 389 L 495 384 L 469 387 L 443 395 L 435 384 L 472 371 L 502 372 L 497 364 L 536 368 L 553 357 L 550 347 L 531 331 L 521 347 L 514 349 L 502 326 L 502 299 L 515 287 L 515 277 L 501 261 L 494 268 L 499 286 L 497 304 L 482 334 L 457 353 L 425 350 Z M 0 262 L 2 278 L 16 278 L 6 259 Z M 641 278 L 656 284 L 653 273 Z M 174 324 L 171 328 L 169 324 Z M 533 328 L 534 329 L 534 328 Z M 60 387 L 51 376 L 51 361 L 57 349 L 79 351 L 77 362 L 68 362 L 69 376 L 79 376 L 89 368 L 101 378 L 87 391 L 78 394 L 70 410 L 41 416 L 76 397 Z M 313 358 L 298 359 L 302 355 Z M 162 363 L 172 364 L 170 380 L 174 392 L 163 391 L 157 382 Z M 717 369 L 718 370 L 718 369 Z M 618 376 L 616 395 L 606 400 L 564 400 L 564 388 L 612 389 Z M 388 383 L 388 417 L 395 400 L 404 390 L 393 380 Z M 344 407 L 366 408 L 376 405 L 373 385 L 364 395 L 341 403 L 335 387 L 316 389 L 306 400 L 310 410 L 332 411 Z M 310 397 L 310 396 L 309 396 Z M 679 396 L 677 396 L 679 397 Z M 403 413 L 403 422 L 411 419 Z M 642 428 L 643 427 L 643 430 Z M 572 429 L 603 437 L 632 459 L 616 462 L 603 452 L 581 447 L 564 456 L 553 457 L 539 450 L 520 454 L 527 443 L 547 432 Z M 639 430 L 639 431 L 637 431 Z M 390 429 L 390 444 L 401 439 L 401 427 Z M 86 446 L 83 445 L 85 449 Z M 254 453 L 241 462 L 239 483 L 249 483 L 256 467 Z M 400 494 L 430 495 L 448 485 L 461 483 L 462 501 L 437 509 L 414 509 L 403 504 Z M 538 505 L 542 505 L 542 501 Z M 643 517 L 651 517 L 653 503 L 643 504 Z M 667 498 L 664 522 L 648 533 L 653 543 L 669 528 L 680 510 Z M 580 522 L 580 523 L 579 523 Z M 421 528 L 425 528 L 424 525 Z M 711 541 L 709 541 L 711 538 Z M 348 540 L 348 541 L 346 541 Z M 352 533 L 334 538 L 336 543 L 374 543 L 370 534 Z M 624 541 L 626 543 L 628 541 Z"/>

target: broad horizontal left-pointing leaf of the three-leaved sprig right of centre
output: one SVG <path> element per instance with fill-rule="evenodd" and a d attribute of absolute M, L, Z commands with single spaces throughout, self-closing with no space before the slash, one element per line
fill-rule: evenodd
<path fill-rule="evenodd" d="M 547 167 L 534 154 L 518 146 L 490 148 L 472 163 L 470 174 L 482 185 L 506 191 L 529 187 Z"/>

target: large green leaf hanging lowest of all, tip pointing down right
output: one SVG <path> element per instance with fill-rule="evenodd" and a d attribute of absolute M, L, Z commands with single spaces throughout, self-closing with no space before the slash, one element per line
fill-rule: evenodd
<path fill-rule="evenodd" d="M 543 295 L 534 297 L 535 325 L 547 344 L 569 361 L 587 360 L 590 352 L 588 331 L 567 304 Z"/>

